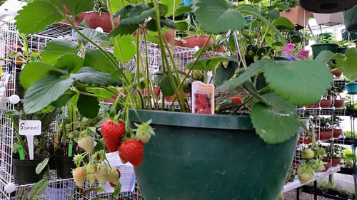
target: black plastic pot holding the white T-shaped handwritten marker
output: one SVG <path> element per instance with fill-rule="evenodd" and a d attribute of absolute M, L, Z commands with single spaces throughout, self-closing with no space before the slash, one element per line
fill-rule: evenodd
<path fill-rule="evenodd" d="M 12 167 L 14 168 L 15 184 L 34 184 L 44 177 L 43 170 L 40 174 L 36 174 L 37 165 L 46 159 L 45 154 L 34 154 L 34 159 L 21 160 L 19 157 L 13 157 Z"/>

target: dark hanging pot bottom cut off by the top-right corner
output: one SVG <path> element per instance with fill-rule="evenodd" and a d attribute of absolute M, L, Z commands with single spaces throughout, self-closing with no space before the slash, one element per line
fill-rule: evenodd
<path fill-rule="evenodd" d="M 298 4 L 318 14 L 333 14 L 351 9 L 357 5 L 356 0 L 298 0 Z"/>

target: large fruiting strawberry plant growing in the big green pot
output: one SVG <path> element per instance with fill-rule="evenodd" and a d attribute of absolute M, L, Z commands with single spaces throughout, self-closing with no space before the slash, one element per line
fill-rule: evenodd
<path fill-rule="evenodd" d="M 201 49 L 206 48 L 213 35 L 227 36 L 234 57 L 202 58 L 203 51 L 198 51 L 196 58 L 186 65 L 185 73 L 181 73 L 181 63 L 176 63 L 176 52 L 169 46 L 162 31 L 163 28 L 177 28 L 176 23 L 168 18 L 176 8 L 173 4 L 176 1 L 154 0 L 147 4 L 121 2 L 113 6 L 114 2 L 106 1 L 114 26 L 108 36 L 94 30 L 79 31 L 64 11 L 64 6 L 71 16 L 91 11 L 93 0 L 37 0 L 24 6 L 16 16 L 19 31 L 37 33 L 51 23 L 66 19 L 76 32 L 78 42 L 53 40 L 47 43 L 40 62 L 28 63 L 20 80 L 27 90 L 24 97 L 26 113 L 39 112 L 46 107 L 61 107 L 71 100 L 80 115 L 92 118 L 99 113 L 99 101 L 111 100 L 113 104 L 106 113 L 108 120 L 101 126 L 101 135 L 104 141 L 109 141 L 116 134 L 107 132 L 106 127 L 119 127 L 121 133 L 117 134 L 119 138 L 114 140 L 114 145 L 104 143 L 107 149 L 111 149 L 110 152 L 119 149 L 119 157 L 131 162 L 134 167 L 141 165 L 144 144 L 155 134 L 151 120 L 141 120 L 139 110 L 164 111 L 165 98 L 159 102 L 154 92 L 159 86 L 164 97 L 174 95 L 168 110 L 174 110 L 177 100 L 180 112 L 191 112 L 187 92 L 194 81 L 191 78 L 194 70 L 204 72 L 203 80 L 208 80 L 208 72 L 213 71 L 216 93 L 219 91 L 221 94 L 216 98 L 223 99 L 221 102 L 236 100 L 229 106 L 223 103 L 212 105 L 216 107 L 216 112 L 250 115 L 256 134 L 268 144 L 286 142 L 296 136 L 301 126 L 296 105 L 318 102 L 321 95 L 326 95 L 331 88 L 332 75 L 326 66 L 333 56 L 331 53 L 322 52 L 316 60 L 291 61 L 273 58 L 271 56 L 276 56 L 276 52 L 263 48 L 264 43 L 285 45 L 281 31 L 294 28 L 290 21 L 278 16 L 276 5 L 269 6 L 266 1 L 249 1 L 247 4 L 233 4 L 226 0 L 193 1 L 192 11 L 197 23 L 208 35 Z M 259 9 L 263 6 L 264 9 Z M 34 16 L 35 12 L 38 15 Z M 43 20 L 38 21 L 40 17 Z M 114 25 L 114 17 L 120 17 L 118 26 Z M 141 51 L 141 47 L 148 48 L 145 29 L 156 32 L 159 38 L 162 65 L 156 73 L 149 70 L 148 51 Z M 133 40 L 135 31 L 139 34 Z M 144 34 L 141 35 L 140 31 Z M 86 48 L 89 44 L 96 49 Z M 114 47 L 114 53 L 104 49 L 109 45 Z M 246 59 L 246 56 L 251 56 L 251 59 Z M 133 71 L 121 67 L 129 60 L 136 65 Z M 232 70 L 227 64 L 235 67 Z M 224 65 L 231 73 L 222 75 L 221 71 L 226 69 Z M 355 74 L 356 71 L 346 73 L 350 76 Z M 153 75 L 156 75 L 155 80 L 151 78 Z M 131 123 L 129 113 L 137 117 L 136 127 Z M 128 154 L 129 146 L 138 149 L 135 157 Z"/>

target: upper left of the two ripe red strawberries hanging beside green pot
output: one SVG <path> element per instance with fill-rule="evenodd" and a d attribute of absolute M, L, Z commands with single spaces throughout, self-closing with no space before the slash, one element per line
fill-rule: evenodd
<path fill-rule="evenodd" d="M 109 152 L 115 152 L 119 147 L 121 136 L 125 134 L 125 125 L 120 120 L 115 124 L 112 120 L 106 120 L 101 125 L 101 135 Z"/>

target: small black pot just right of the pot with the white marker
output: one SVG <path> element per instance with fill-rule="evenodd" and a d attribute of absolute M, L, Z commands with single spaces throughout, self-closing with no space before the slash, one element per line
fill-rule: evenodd
<path fill-rule="evenodd" d="M 76 164 L 74 164 L 73 157 L 56 155 L 54 160 L 56 162 L 57 177 L 61 179 L 71 179 L 72 169 L 76 168 Z"/>

